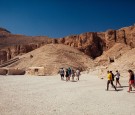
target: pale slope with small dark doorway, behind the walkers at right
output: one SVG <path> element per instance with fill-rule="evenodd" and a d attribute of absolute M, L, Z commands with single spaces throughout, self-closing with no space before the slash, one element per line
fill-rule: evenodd
<path fill-rule="evenodd" d="M 113 59 L 109 61 L 109 57 Z M 122 77 L 127 77 L 127 71 L 129 69 L 135 71 L 135 48 L 131 48 L 128 45 L 116 43 L 112 48 L 96 58 L 94 62 L 97 65 L 99 74 L 106 76 L 108 70 L 112 70 L 114 73 L 119 70 Z"/>

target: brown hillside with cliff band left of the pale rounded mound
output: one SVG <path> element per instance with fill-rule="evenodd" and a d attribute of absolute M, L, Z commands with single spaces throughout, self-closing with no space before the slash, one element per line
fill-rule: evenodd
<path fill-rule="evenodd" d="M 11 34 L 8 30 L 0 28 L 0 63 L 10 60 L 17 55 L 28 53 L 54 39 L 46 36 L 24 36 Z"/>

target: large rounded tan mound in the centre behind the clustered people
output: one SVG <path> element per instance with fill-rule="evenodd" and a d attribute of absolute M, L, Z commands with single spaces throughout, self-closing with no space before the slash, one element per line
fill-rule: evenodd
<path fill-rule="evenodd" d="M 32 56 L 32 57 L 30 57 Z M 48 44 L 27 54 L 19 56 L 20 60 L 8 67 L 28 69 L 29 67 L 45 67 L 47 74 L 56 74 L 59 68 L 80 68 L 86 70 L 93 67 L 93 60 L 83 52 L 62 44 Z"/>

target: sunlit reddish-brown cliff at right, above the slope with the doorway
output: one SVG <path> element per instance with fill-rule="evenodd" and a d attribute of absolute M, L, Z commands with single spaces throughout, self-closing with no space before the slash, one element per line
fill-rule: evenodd
<path fill-rule="evenodd" d="M 110 49 L 115 43 L 124 43 L 135 47 L 135 26 L 108 30 L 105 32 L 106 47 Z"/>

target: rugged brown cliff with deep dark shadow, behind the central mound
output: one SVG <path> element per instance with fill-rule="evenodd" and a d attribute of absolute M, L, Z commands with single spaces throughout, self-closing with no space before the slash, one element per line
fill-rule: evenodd
<path fill-rule="evenodd" d="M 67 36 L 59 39 L 59 43 L 75 47 L 92 58 L 102 54 L 104 41 L 94 32 Z"/>

